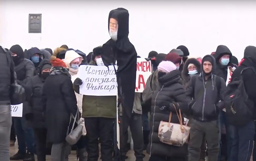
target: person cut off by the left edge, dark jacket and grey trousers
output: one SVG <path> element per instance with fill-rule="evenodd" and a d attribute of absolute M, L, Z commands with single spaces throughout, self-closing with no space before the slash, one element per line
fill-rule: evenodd
<path fill-rule="evenodd" d="M 0 46 L 0 161 L 10 161 L 10 85 L 14 83 L 14 69 L 11 55 Z"/>

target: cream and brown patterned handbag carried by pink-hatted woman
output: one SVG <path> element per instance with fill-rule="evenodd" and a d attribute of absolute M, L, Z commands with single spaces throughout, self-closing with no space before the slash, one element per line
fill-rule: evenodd
<path fill-rule="evenodd" d="M 171 123 L 172 112 L 170 112 L 169 122 L 160 122 L 158 128 L 158 137 L 162 143 L 173 146 L 183 146 L 188 141 L 190 127 L 183 125 L 180 109 L 178 113 L 174 104 L 173 106 L 175 108 L 180 123 Z"/>

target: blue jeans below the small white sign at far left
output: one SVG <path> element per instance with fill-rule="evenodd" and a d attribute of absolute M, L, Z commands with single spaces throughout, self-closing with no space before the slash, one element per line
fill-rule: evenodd
<path fill-rule="evenodd" d="M 14 127 L 18 140 L 18 152 L 34 154 L 34 132 L 32 128 L 27 127 L 25 118 L 14 118 Z"/>

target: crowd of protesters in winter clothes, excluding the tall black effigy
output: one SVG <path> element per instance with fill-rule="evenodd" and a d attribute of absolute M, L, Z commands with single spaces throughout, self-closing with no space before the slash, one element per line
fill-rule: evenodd
<path fill-rule="evenodd" d="M 23 103 L 23 117 L 13 117 L 12 124 L 5 115 L 10 110 L 4 87 L 10 84 L 7 77 L 1 77 L 2 108 L 1 127 L 10 125 L 10 130 L 1 133 L 1 160 L 46 161 L 51 154 L 52 161 L 66 161 L 71 146 L 65 141 L 70 115 L 79 109 L 84 120 L 83 135 L 76 143 L 79 161 L 97 161 L 99 143 L 102 161 L 113 159 L 114 123 L 116 120 L 115 96 L 85 96 L 79 94 L 83 83 L 77 73 L 81 65 L 102 66 L 102 47 L 84 54 L 79 50 L 61 46 L 52 53 L 50 49 L 33 47 L 23 50 L 14 45 L 9 50 L 1 49 L 1 68 L 7 69 L 4 56 L 9 52 L 14 64 L 17 82 L 26 91 Z M 138 56 L 139 57 L 139 56 Z M 146 150 L 150 161 L 250 161 L 255 134 L 254 118 L 242 127 L 232 125 L 225 112 L 226 85 L 235 78 L 243 79 L 248 99 L 255 101 L 256 47 L 248 46 L 244 58 L 232 56 L 227 46 L 220 45 L 211 55 L 191 58 L 185 46 L 173 49 L 169 54 L 151 51 L 152 63 L 143 93 L 136 93 L 133 115 L 129 127 L 133 139 L 136 161 L 143 161 Z M 251 69 L 247 69 L 247 68 Z M 10 66 L 11 68 L 11 66 Z M 241 77 L 241 71 L 246 69 Z M 3 75 L 12 70 L 2 71 Z M 107 102 L 107 103 L 106 103 Z M 8 107 L 8 108 L 7 108 Z M 158 127 L 161 121 L 179 123 L 175 110 L 180 109 L 182 119 L 188 118 L 191 127 L 188 143 L 173 146 L 159 140 Z M 122 109 L 122 108 L 121 108 Z M 254 111 L 252 111 L 254 112 Z M 122 119 L 122 111 L 120 112 Z M 237 118 L 239 119 L 239 118 Z M 10 135 L 8 134 L 10 131 Z M 7 132 L 7 133 L 6 133 Z M 18 141 L 18 152 L 9 157 L 9 146 Z M 126 153 L 128 134 L 120 131 L 121 158 Z M 206 146 L 207 145 L 207 146 Z M 207 148 L 206 148 L 207 147 Z M 8 159 L 6 157 L 8 156 Z M 254 157 L 254 159 L 256 159 Z"/>

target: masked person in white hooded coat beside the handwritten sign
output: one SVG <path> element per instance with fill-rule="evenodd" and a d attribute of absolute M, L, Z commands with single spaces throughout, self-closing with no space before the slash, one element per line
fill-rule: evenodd
<path fill-rule="evenodd" d="M 64 62 L 69 69 L 69 73 L 71 74 L 71 81 L 74 82 L 74 80 L 78 77 L 78 68 L 79 65 L 82 62 L 82 56 L 76 53 L 76 51 L 73 50 L 68 50 L 65 54 L 65 59 Z M 82 113 L 82 101 L 83 101 L 83 95 L 76 93 L 76 100 L 77 100 L 77 107 L 79 111 Z M 84 118 L 80 118 L 80 120 L 84 120 Z M 84 125 L 84 122 L 82 123 L 83 125 L 83 133 L 80 138 L 80 140 L 76 143 L 76 146 L 78 148 L 78 158 L 79 161 L 87 161 L 87 155 L 86 155 L 86 128 Z"/>

